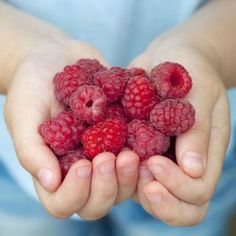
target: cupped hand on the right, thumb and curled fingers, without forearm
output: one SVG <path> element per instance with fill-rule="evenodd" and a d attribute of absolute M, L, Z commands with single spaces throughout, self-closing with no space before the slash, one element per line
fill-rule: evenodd
<path fill-rule="evenodd" d="M 186 99 L 196 109 L 196 122 L 177 138 L 178 165 L 163 156 L 142 163 L 135 198 L 154 217 L 187 226 L 202 221 L 220 177 L 229 138 L 229 107 L 220 68 L 192 46 L 159 42 L 131 66 L 150 70 L 163 61 L 179 62 L 190 72 L 193 88 Z"/>

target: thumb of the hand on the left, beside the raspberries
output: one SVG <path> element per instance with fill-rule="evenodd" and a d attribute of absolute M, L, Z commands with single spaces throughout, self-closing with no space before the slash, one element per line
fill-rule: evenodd
<path fill-rule="evenodd" d="M 6 105 L 6 120 L 21 165 L 47 191 L 55 191 L 61 181 L 60 167 L 57 158 L 38 132 L 39 125 L 49 114 L 45 114 L 40 104 L 33 104 L 24 97 L 20 101 L 11 102 L 10 109 L 14 113 L 7 111 L 8 109 Z"/>

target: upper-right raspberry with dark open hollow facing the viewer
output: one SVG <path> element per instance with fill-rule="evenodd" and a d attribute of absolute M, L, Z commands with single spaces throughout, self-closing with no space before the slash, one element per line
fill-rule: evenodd
<path fill-rule="evenodd" d="M 163 98 L 183 98 L 192 88 L 189 73 L 178 63 L 165 62 L 154 67 L 150 79 Z"/>

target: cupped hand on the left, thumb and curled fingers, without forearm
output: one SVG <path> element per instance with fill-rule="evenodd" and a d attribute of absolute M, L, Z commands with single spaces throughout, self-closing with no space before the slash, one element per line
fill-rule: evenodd
<path fill-rule="evenodd" d="M 80 160 L 61 184 L 58 161 L 38 133 L 39 125 L 62 109 L 54 97 L 54 74 L 79 58 L 96 58 L 106 64 L 97 50 L 84 43 L 60 37 L 37 42 L 11 81 L 5 116 L 19 161 L 33 176 L 47 210 L 59 218 L 78 213 L 97 219 L 135 191 L 138 157 L 127 157 L 123 151 L 117 159 L 104 153 L 92 163 Z"/>

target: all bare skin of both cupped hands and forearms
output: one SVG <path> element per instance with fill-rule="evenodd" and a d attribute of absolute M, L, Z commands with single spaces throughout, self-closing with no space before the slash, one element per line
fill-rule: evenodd
<path fill-rule="evenodd" d="M 177 139 L 177 162 L 123 150 L 76 162 L 61 183 L 56 157 L 37 128 L 61 110 L 51 79 L 65 64 L 96 58 L 92 46 L 0 3 L 0 92 L 7 95 L 5 118 L 18 159 L 31 173 L 45 208 L 55 217 L 77 213 L 95 220 L 133 197 L 160 220 L 175 226 L 204 218 L 221 174 L 229 138 L 225 87 L 236 85 L 236 3 L 210 1 L 185 24 L 155 39 L 130 66 L 148 71 L 162 62 L 183 64 L 193 79 L 187 99 L 196 123 Z M 17 19 L 17 20 L 16 20 Z"/>

